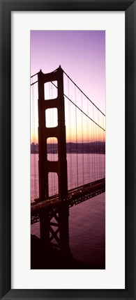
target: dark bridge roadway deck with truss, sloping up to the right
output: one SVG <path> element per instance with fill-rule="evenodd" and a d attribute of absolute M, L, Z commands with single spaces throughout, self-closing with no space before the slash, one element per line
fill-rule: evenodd
<path fill-rule="evenodd" d="M 105 178 L 70 189 L 68 191 L 66 202 L 69 207 L 72 207 L 87 199 L 93 198 L 104 191 Z M 39 199 L 36 199 L 34 203 L 31 203 L 31 224 L 40 221 L 40 212 L 43 212 L 43 210 L 57 210 L 59 205 L 61 205 L 61 200 L 59 200 L 58 194 L 50 196 L 48 200 L 42 202 Z"/>

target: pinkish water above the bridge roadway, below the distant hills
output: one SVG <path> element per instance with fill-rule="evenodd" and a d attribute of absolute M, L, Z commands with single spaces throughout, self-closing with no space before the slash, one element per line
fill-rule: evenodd
<path fill-rule="evenodd" d="M 57 154 L 48 154 L 47 159 L 57 161 Z M 68 189 L 105 177 L 105 155 L 67 153 Z M 56 173 L 49 173 L 49 194 L 58 193 Z M 31 154 L 31 202 L 38 198 L 38 154 Z"/>

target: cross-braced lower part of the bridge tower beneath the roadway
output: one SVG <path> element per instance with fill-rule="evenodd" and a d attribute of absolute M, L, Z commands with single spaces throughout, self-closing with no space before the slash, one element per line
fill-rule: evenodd
<path fill-rule="evenodd" d="M 68 216 L 69 207 L 64 202 L 57 208 L 40 212 L 40 239 L 47 253 L 56 249 L 63 256 L 70 255 Z"/>

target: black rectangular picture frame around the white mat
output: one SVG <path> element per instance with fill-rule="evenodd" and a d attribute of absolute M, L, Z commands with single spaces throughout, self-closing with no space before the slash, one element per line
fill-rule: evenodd
<path fill-rule="evenodd" d="M 125 11 L 126 19 L 126 289 L 11 289 L 11 12 L 40 10 Z M 136 299 L 135 120 L 136 120 L 136 2 L 135 0 L 1 0 L 0 100 L 0 296 L 1 299 Z"/>

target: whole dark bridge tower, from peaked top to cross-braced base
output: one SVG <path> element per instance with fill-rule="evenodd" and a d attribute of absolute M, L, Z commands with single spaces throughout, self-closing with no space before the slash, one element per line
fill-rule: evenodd
<path fill-rule="evenodd" d="M 44 84 L 57 81 L 56 99 L 45 100 Z M 57 109 L 58 125 L 56 127 L 46 127 L 46 109 Z M 39 198 L 40 201 L 49 199 L 49 179 L 50 172 L 57 173 L 59 187 L 59 203 L 56 207 L 50 207 L 47 211 L 40 212 L 40 239 L 45 244 L 45 248 L 58 248 L 65 254 L 70 253 L 68 216 L 69 208 L 67 204 L 68 177 L 66 161 L 66 126 L 65 109 L 63 97 L 63 70 L 61 66 L 54 72 L 43 74 L 38 73 L 38 146 L 39 146 Z M 58 141 L 58 161 L 47 159 L 47 139 L 55 137 Z"/>

